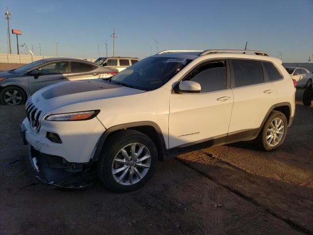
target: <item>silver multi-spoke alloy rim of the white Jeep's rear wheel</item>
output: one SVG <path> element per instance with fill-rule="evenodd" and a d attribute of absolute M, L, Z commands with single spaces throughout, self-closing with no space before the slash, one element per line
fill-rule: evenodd
<path fill-rule="evenodd" d="M 276 146 L 283 138 L 285 131 L 284 121 L 281 118 L 275 118 L 268 127 L 266 140 L 268 145 Z"/>

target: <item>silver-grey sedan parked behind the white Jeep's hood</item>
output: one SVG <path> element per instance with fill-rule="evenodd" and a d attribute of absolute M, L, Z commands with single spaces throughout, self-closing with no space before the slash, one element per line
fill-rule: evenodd
<path fill-rule="evenodd" d="M 0 71 L 0 102 L 4 105 L 25 103 L 39 89 L 62 81 L 108 78 L 118 71 L 72 58 L 38 60 L 10 71 Z"/>

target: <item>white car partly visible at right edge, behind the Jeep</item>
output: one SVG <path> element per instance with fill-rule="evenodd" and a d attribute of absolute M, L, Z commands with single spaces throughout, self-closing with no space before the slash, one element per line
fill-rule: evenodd
<path fill-rule="evenodd" d="M 308 87 L 312 84 L 313 73 L 304 68 L 286 67 L 291 78 L 297 82 L 297 87 Z"/>

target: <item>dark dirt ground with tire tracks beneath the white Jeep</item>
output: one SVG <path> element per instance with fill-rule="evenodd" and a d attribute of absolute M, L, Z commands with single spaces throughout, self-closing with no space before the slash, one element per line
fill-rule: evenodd
<path fill-rule="evenodd" d="M 313 235 L 313 106 L 297 102 L 274 152 L 247 141 L 180 155 L 124 194 L 97 178 L 82 191 L 34 178 L 19 134 L 24 114 L 0 106 L 0 235 Z"/>

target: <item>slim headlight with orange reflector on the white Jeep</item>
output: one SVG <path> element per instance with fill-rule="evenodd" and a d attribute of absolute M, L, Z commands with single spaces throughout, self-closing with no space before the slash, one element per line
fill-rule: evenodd
<path fill-rule="evenodd" d="M 51 114 L 45 117 L 48 121 L 82 121 L 89 120 L 96 117 L 100 113 L 100 110 L 82 111 L 75 113 L 65 113 L 65 114 Z"/>

